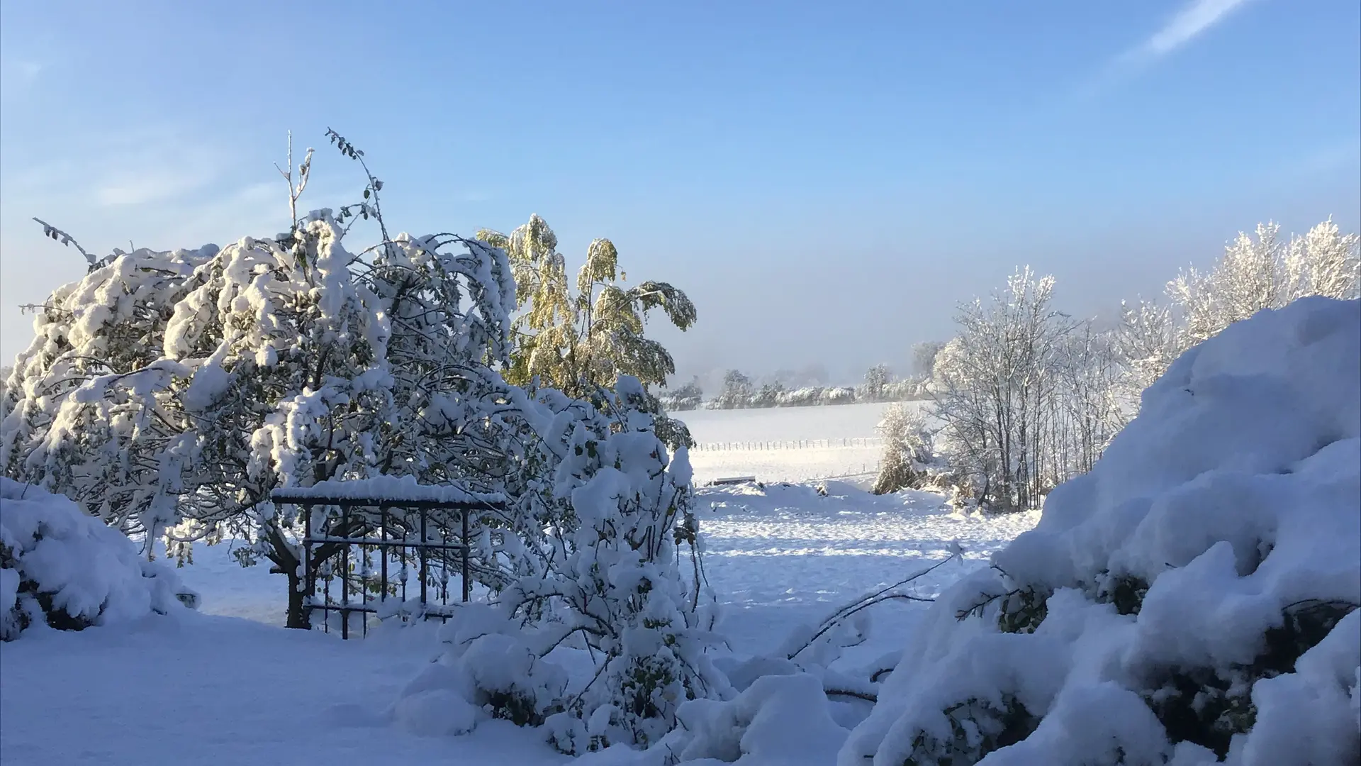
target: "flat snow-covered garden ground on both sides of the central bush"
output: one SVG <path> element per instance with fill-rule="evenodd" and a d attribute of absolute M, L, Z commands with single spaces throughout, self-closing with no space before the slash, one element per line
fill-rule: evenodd
<path fill-rule="evenodd" d="M 928 493 L 827 489 L 825 497 L 806 485 L 701 493 L 708 574 L 735 654 L 770 650 L 793 627 L 945 559 L 958 538 L 965 560 L 920 583 L 919 594 L 932 596 L 1038 518 L 964 518 Z M 278 627 L 283 578 L 265 567 L 241 568 L 227 545 L 199 548 L 180 574 L 201 593 L 206 615 L 30 632 L 0 649 L 0 763 L 565 761 L 535 732 L 495 721 L 468 736 L 431 739 L 381 720 L 437 654 L 433 630 L 342 642 Z M 902 602 L 876 609 L 871 639 L 844 662 L 867 664 L 900 649 L 923 611 Z"/>

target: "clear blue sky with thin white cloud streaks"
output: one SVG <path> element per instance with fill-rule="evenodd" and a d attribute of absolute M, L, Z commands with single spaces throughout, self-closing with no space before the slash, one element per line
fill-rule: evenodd
<path fill-rule="evenodd" d="M 539 213 L 686 289 L 683 372 L 902 367 L 1014 266 L 1111 312 L 1274 218 L 1361 218 L 1354 0 L 0 0 L 0 354 L 90 249 L 286 228 L 387 184 L 397 229 Z"/>

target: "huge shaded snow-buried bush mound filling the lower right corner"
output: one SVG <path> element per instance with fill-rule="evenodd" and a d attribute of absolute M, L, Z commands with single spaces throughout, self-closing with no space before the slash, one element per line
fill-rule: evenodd
<path fill-rule="evenodd" d="M 1356 763 L 1361 303 L 1230 326 L 932 604 L 842 766 Z"/>

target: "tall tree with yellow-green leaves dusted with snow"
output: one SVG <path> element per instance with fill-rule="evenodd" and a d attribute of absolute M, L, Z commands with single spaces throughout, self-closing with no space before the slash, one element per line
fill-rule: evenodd
<path fill-rule="evenodd" d="M 685 331 L 695 322 L 686 294 L 667 282 L 623 285 L 619 252 L 610 240 L 592 240 L 587 259 L 569 282 L 558 236 L 538 215 L 510 234 L 483 229 L 478 239 L 502 248 L 514 270 L 520 313 L 512 331 L 514 350 L 506 380 L 539 378 L 568 395 L 611 387 L 621 375 L 644 386 L 666 386 L 675 361 L 660 342 L 644 335 L 648 313 L 660 308 Z"/>

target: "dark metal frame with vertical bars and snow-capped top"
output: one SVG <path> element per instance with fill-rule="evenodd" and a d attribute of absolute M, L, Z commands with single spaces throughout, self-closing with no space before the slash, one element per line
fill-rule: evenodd
<path fill-rule="evenodd" d="M 461 597 L 463 601 L 468 601 L 472 594 L 472 578 L 470 571 L 468 552 L 471 551 L 470 538 L 475 532 L 470 515 L 474 511 L 497 511 L 502 510 L 502 506 L 497 503 L 480 502 L 480 500 L 467 500 L 467 502 L 449 502 L 449 500 L 430 500 L 430 499 L 412 499 L 412 497 L 384 497 L 384 496 L 362 496 L 352 493 L 336 493 L 336 496 L 317 495 L 309 492 L 308 489 L 293 489 L 282 488 L 271 492 L 269 497 L 275 503 L 287 503 L 298 506 L 302 510 L 304 518 L 304 533 L 302 533 L 302 582 L 306 589 L 306 608 L 309 612 L 323 612 L 323 615 L 329 616 L 331 612 L 338 612 L 340 615 L 340 637 L 344 639 L 350 638 L 350 615 L 359 613 L 363 615 L 361 622 L 361 635 L 367 635 L 370 613 L 382 613 L 382 604 L 388 600 L 388 592 L 396 590 L 396 587 L 389 586 L 388 578 L 388 563 L 392 552 L 396 551 L 399 557 L 403 560 L 401 564 L 401 586 L 400 597 L 403 602 L 407 601 L 407 577 L 406 577 L 406 560 L 415 551 L 415 559 L 418 563 L 416 577 L 421 582 L 421 619 L 427 619 L 431 615 L 438 615 L 441 620 L 448 619 L 448 585 L 449 585 L 449 556 L 452 551 L 459 552 L 459 575 L 461 579 Z M 312 529 L 312 511 L 317 506 L 331 506 L 340 508 L 340 515 L 338 518 L 342 534 L 332 534 L 335 527 L 336 517 L 329 517 L 324 529 Z M 351 527 L 351 510 L 354 508 L 377 508 L 378 519 L 377 525 L 373 521 L 361 522 L 361 534 L 351 534 L 354 529 Z M 457 534 L 457 541 L 452 542 L 449 540 L 448 527 L 441 527 L 438 540 L 431 540 L 430 534 L 430 514 L 431 511 L 450 511 L 457 512 L 459 526 L 461 527 Z M 377 537 L 372 537 L 377 533 Z M 411 538 L 411 533 L 416 533 L 416 538 Z M 336 551 L 327 555 L 323 560 L 313 566 L 313 551 L 317 545 L 333 545 Z M 370 598 L 369 585 L 372 579 L 365 574 L 355 575 L 351 572 L 351 549 L 359 547 L 359 555 L 365 564 L 367 564 L 367 556 L 373 552 L 378 553 L 380 572 L 378 572 L 378 596 L 377 605 L 374 605 Z M 339 559 L 339 579 L 340 579 L 340 601 L 332 601 L 331 596 L 331 562 Z M 441 608 L 431 608 L 430 586 L 431 583 L 431 563 L 437 562 L 440 564 L 440 583 L 438 594 Z M 323 598 L 317 602 L 317 574 L 325 570 L 323 574 Z M 367 570 L 366 570 L 367 571 Z M 351 581 L 359 579 L 358 601 L 351 601 Z M 331 631 L 331 620 L 323 620 L 323 630 L 325 632 Z"/>

